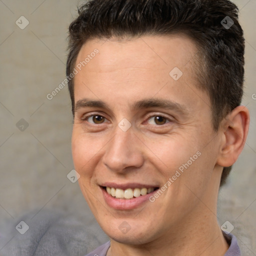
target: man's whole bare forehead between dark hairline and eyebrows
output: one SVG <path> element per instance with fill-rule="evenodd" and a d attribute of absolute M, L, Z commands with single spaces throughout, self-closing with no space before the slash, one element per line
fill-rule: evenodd
<path fill-rule="evenodd" d="M 80 69 L 74 77 L 74 99 L 104 99 L 114 106 L 157 94 L 180 105 L 189 98 L 188 107 L 197 105 L 202 91 L 192 93 L 190 88 L 198 87 L 196 53 L 194 42 L 184 35 L 89 40 L 76 59 Z"/>

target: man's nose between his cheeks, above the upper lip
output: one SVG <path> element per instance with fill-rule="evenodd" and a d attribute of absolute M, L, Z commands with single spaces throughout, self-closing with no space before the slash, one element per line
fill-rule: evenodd
<path fill-rule="evenodd" d="M 132 126 L 127 131 L 116 126 L 113 138 L 106 145 L 102 161 L 108 169 L 120 173 L 142 166 L 142 142 L 133 132 Z"/>

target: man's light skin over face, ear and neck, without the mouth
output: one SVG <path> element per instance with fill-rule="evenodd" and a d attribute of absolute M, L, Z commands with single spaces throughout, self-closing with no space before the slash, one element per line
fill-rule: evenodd
<path fill-rule="evenodd" d="M 219 181 L 222 166 L 232 165 L 243 148 L 248 109 L 236 107 L 214 131 L 209 96 L 194 75 L 197 49 L 186 36 L 89 40 L 76 64 L 94 48 L 99 53 L 74 77 L 72 155 L 80 189 L 110 237 L 107 255 L 224 255 Z M 176 81 L 169 75 L 174 67 L 183 72 Z M 153 100 L 160 104 L 150 105 Z M 123 118 L 131 124 L 127 131 L 118 126 Z M 105 182 L 161 187 L 197 151 L 200 156 L 154 202 L 116 209 L 105 201 Z"/>

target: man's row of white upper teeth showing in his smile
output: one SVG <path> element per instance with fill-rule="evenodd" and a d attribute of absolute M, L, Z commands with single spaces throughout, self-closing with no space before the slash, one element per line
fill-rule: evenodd
<path fill-rule="evenodd" d="M 114 188 L 114 187 L 106 187 L 106 191 L 108 194 L 111 194 L 115 198 L 125 198 L 125 199 L 130 199 L 133 196 L 138 197 L 140 195 L 145 195 L 147 193 L 151 193 L 154 190 L 153 187 L 149 188 L 126 188 L 126 189 L 121 189 L 121 188 Z"/>

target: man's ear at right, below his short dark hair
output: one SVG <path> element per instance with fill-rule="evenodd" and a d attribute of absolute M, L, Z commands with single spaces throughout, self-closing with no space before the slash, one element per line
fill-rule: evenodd
<path fill-rule="evenodd" d="M 249 129 L 249 111 L 245 106 L 237 106 L 221 122 L 221 145 L 217 164 L 231 166 L 243 149 Z"/>

